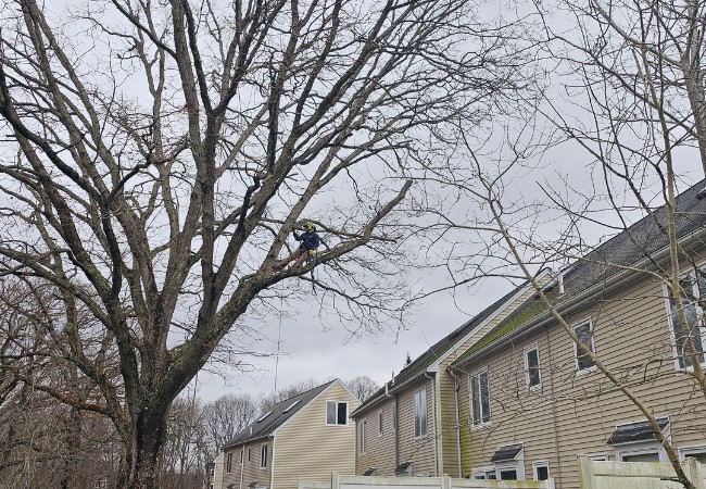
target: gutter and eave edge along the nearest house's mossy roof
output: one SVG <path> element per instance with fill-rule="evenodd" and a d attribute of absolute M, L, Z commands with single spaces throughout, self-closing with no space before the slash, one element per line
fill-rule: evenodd
<path fill-rule="evenodd" d="M 701 236 L 701 235 L 706 235 L 706 227 L 702 227 L 697 230 L 693 230 L 691 233 L 688 233 L 686 235 L 682 236 L 677 240 L 679 244 L 683 244 L 684 241 L 689 241 L 694 239 L 694 237 Z M 656 256 L 655 256 L 656 254 Z M 588 289 L 583 290 L 580 293 L 577 293 L 576 296 L 572 296 L 569 298 L 569 300 L 565 304 L 560 304 L 556 310 L 559 314 L 569 314 L 572 311 L 580 309 L 585 305 L 587 299 L 595 296 L 600 291 L 607 291 L 612 292 L 625 285 L 625 280 L 627 277 L 631 275 L 636 275 L 641 274 L 642 272 L 640 269 L 635 268 L 642 268 L 645 267 L 644 265 L 647 265 L 648 263 L 652 263 L 653 261 L 657 262 L 660 260 L 664 260 L 669 255 L 669 244 L 657 251 L 655 254 L 652 256 L 645 256 L 643 259 L 640 259 L 639 261 L 626 266 L 623 269 L 617 272 L 616 274 L 612 275 L 608 277 L 605 281 L 598 281 Z M 571 266 L 571 265 L 569 265 Z M 533 331 L 534 329 L 539 329 L 547 323 L 551 323 L 554 319 L 552 316 L 552 313 L 550 311 L 546 311 L 538 316 L 532 317 L 529 319 L 527 323 L 524 325 L 518 326 L 517 328 L 513 329 L 509 331 L 507 335 L 501 336 L 500 338 L 491 341 L 488 343 L 486 347 L 481 348 L 477 352 L 471 353 L 468 355 L 466 359 L 463 359 L 462 362 L 459 362 L 457 365 L 454 365 L 453 363 L 446 367 L 446 369 L 455 371 L 455 372 L 461 372 L 463 369 L 463 366 L 469 364 L 470 362 L 478 360 L 479 358 L 486 356 L 502 346 L 504 346 L 506 342 L 508 342 L 510 339 L 515 338 L 517 335 L 520 333 L 530 333 Z"/>

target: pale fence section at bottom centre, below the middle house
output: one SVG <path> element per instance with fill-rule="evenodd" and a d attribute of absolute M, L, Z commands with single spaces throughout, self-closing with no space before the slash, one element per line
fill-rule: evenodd
<path fill-rule="evenodd" d="M 451 477 L 346 476 L 333 473 L 331 484 L 300 480 L 299 489 L 554 489 L 549 480 L 476 480 Z"/>

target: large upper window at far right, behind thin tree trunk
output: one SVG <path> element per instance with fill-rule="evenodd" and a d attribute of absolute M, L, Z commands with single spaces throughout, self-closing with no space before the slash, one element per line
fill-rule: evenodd
<path fill-rule="evenodd" d="M 706 337 L 706 325 L 704 324 L 704 310 L 698 304 L 699 298 L 706 294 L 706 277 L 704 277 L 704 273 L 706 271 L 703 268 L 698 269 L 696 274 L 690 272 L 679 280 L 682 289 L 682 311 L 684 312 L 686 325 L 682 325 L 679 319 L 680 311 L 677 309 L 677 301 L 671 290 L 665 286 L 675 358 L 679 369 L 693 368 L 692 355 L 686 341 L 690 337 L 696 359 L 701 364 L 705 363 L 703 338 Z"/>

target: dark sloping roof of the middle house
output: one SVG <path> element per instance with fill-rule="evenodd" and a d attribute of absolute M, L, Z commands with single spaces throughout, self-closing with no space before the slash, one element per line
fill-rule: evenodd
<path fill-rule="evenodd" d="M 549 271 L 543 269 L 540 272 L 540 274 L 545 273 L 549 273 Z M 386 384 L 386 386 L 382 386 L 382 388 L 380 388 L 376 393 L 370 396 L 363 404 L 358 406 L 357 410 L 351 414 L 351 417 L 355 417 L 356 415 L 379 404 L 386 399 L 386 392 L 389 393 L 399 391 L 405 385 L 408 385 L 409 383 L 420 378 L 426 372 L 428 372 L 428 368 L 430 366 L 443 360 L 450 352 L 457 348 L 459 343 L 465 342 L 467 336 L 469 336 L 479 326 L 482 326 L 486 321 L 494 317 L 496 313 L 501 312 L 504 309 L 504 305 L 515 300 L 528 287 L 529 283 L 524 281 L 521 285 L 515 287 L 501 299 L 496 300 L 493 304 L 474 316 L 470 321 L 464 323 L 458 328 L 444 336 L 441 340 L 437 341 L 427 351 L 417 356 L 409 365 L 404 367 L 398 375 L 395 375 L 392 384 Z"/>

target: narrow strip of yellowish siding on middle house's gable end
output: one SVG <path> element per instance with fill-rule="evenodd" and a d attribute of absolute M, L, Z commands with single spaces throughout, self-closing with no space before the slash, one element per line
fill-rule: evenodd
<path fill-rule="evenodd" d="M 541 280 L 542 285 L 549 281 L 549 275 Z M 441 459 L 442 474 L 451 477 L 461 477 L 458 473 L 458 436 L 461 424 L 456 419 L 456 383 L 446 372 L 446 367 L 471 347 L 479 338 L 486 335 L 496 324 L 503 321 L 509 313 L 519 306 L 527 299 L 532 297 L 534 289 L 528 289 L 502 310 L 496 317 L 488 322 L 482 328 L 468 338 L 463 344 L 456 348 L 451 355 L 444 359 L 439 365 L 439 412 L 441 424 Z M 461 416 L 461 414 L 459 414 Z"/>

